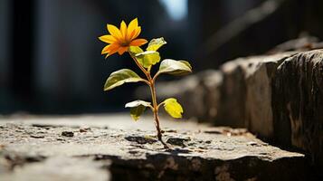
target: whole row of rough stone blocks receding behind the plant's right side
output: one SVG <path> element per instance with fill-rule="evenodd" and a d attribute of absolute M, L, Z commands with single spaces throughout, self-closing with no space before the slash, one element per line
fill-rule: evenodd
<path fill-rule="evenodd" d="M 186 80 L 159 86 L 164 88 L 162 97 L 184 102 L 188 118 L 247 128 L 261 138 L 308 152 L 313 163 L 323 167 L 322 70 L 323 50 L 280 52 L 239 58 L 219 71 L 185 78 L 195 80 L 187 90 Z"/>

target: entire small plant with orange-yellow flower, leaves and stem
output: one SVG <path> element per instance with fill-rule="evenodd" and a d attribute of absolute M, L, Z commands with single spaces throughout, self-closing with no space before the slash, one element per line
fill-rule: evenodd
<path fill-rule="evenodd" d="M 155 82 L 160 74 L 172 74 L 172 75 L 184 75 L 192 72 L 192 67 L 189 62 L 175 61 L 172 59 L 166 59 L 160 62 L 160 55 L 158 49 L 166 44 L 164 38 L 152 39 L 148 45 L 146 51 L 143 51 L 140 46 L 147 43 L 145 39 L 138 39 L 138 35 L 141 32 L 141 27 L 138 26 L 138 19 L 134 19 L 127 24 L 122 21 L 120 28 L 114 25 L 107 24 L 109 34 L 100 36 L 100 41 L 108 43 L 103 50 L 102 54 L 106 54 L 106 58 L 110 55 L 118 52 L 122 55 L 124 52 L 128 52 L 133 61 L 137 64 L 138 68 L 143 71 L 146 78 L 141 78 L 135 71 L 129 69 L 121 69 L 114 71 L 109 75 L 108 80 L 105 82 L 104 90 L 111 90 L 127 82 L 145 82 L 151 92 L 151 102 L 144 100 L 135 100 L 128 102 L 126 108 L 130 108 L 130 115 L 132 119 L 138 120 L 140 115 L 150 108 L 153 111 L 155 125 L 157 129 L 157 138 L 167 148 L 165 142 L 162 139 L 162 131 L 159 126 L 158 110 L 161 106 L 164 106 L 166 112 L 175 119 L 182 118 L 183 108 L 174 98 L 169 98 L 161 103 L 157 103 Z M 154 65 L 160 62 L 159 70 L 155 75 L 151 75 L 150 71 Z"/>

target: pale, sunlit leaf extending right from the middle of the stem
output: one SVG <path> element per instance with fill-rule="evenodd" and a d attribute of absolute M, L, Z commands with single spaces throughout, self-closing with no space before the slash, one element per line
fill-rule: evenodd
<path fill-rule="evenodd" d="M 169 73 L 174 75 L 183 75 L 192 72 L 192 66 L 186 61 L 175 61 L 165 59 L 160 63 L 158 73 Z"/>

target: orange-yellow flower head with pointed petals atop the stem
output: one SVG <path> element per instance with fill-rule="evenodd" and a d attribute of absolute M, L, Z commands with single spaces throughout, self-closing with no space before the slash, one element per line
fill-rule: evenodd
<path fill-rule="evenodd" d="M 147 43 L 145 39 L 136 39 L 141 32 L 141 27 L 138 26 L 138 19 L 135 18 L 127 24 L 122 21 L 120 24 L 120 29 L 112 24 L 107 24 L 107 28 L 110 34 L 100 36 L 100 41 L 104 43 L 109 43 L 102 49 L 101 54 L 107 54 L 106 58 L 116 52 L 119 55 L 124 52 L 128 52 L 129 46 L 141 46 Z"/>

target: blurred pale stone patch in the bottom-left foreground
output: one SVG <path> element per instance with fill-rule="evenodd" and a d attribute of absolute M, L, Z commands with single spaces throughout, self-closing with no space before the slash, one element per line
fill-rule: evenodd
<path fill-rule="evenodd" d="M 3 153 L 7 158 L 1 157 L 6 164 L 12 164 L 11 161 L 16 162 L 19 155 L 13 153 Z M 28 157 L 28 159 L 38 158 Z M 6 159 L 6 160 L 5 160 Z M 43 161 L 42 161 L 43 160 Z M 110 180 L 109 172 L 102 169 L 104 164 L 94 161 L 93 158 L 79 158 L 79 157 L 42 157 L 41 160 L 24 160 L 24 165 L 14 166 L 13 171 L 1 170 L 0 178 L 2 180 L 19 180 L 19 181 L 62 181 L 62 180 Z M 28 163 L 30 162 L 30 163 Z M 23 163 L 19 163 L 23 164 Z M 13 167 L 13 166 L 11 166 Z"/>

